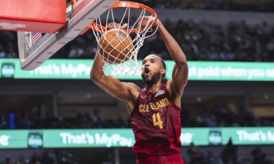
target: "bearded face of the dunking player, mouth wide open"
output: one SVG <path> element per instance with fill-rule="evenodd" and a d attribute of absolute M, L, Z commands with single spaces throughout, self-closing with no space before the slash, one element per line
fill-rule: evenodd
<path fill-rule="evenodd" d="M 160 57 L 148 55 L 142 61 L 142 81 L 147 85 L 157 83 L 161 78 L 161 69 L 163 68 Z"/>

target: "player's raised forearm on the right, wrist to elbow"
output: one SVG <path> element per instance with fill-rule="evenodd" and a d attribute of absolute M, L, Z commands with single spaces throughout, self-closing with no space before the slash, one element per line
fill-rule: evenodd
<path fill-rule="evenodd" d="M 171 55 L 171 58 L 178 66 L 186 64 L 186 55 L 184 54 L 184 51 L 182 51 L 179 44 L 171 36 L 169 31 L 166 30 L 164 25 L 162 25 L 160 20 L 158 20 L 158 23 L 158 31 L 160 32 L 162 39 L 164 40 L 164 44 L 166 45 L 166 49 L 167 51 L 169 51 L 169 55 Z"/>

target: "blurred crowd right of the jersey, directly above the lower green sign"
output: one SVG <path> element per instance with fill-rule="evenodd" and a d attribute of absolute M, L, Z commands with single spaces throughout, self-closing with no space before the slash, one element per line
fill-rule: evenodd
<path fill-rule="evenodd" d="M 183 127 L 274 126 L 273 118 L 256 118 L 251 111 L 245 109 L 235 113 L 227 107 L 201 108 L 194 114 L 182 109 L 181 117 Z"/>

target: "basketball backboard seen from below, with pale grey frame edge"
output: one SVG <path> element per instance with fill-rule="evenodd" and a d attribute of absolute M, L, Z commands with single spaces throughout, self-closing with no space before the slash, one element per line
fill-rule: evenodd
<path fill-rule="evenodd" d="M 18 31 L 18 51 L 22 70 L 34 70 L 66 43 L 76 38 L 95 18 L 117 0 L 78 0 L 66 8 L 66 25 L 56 33 L 45 33 L 32 44 L 32 33 Z"/>

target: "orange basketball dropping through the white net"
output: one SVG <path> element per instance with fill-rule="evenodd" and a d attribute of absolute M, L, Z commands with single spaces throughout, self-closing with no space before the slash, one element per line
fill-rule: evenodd
<path fill-rule="evenodd" d="M 109 64 L 121 64 L 132 57 L 132 38 L 121 29 L 106 31 L 99 40 L 99 53 Z"/>

